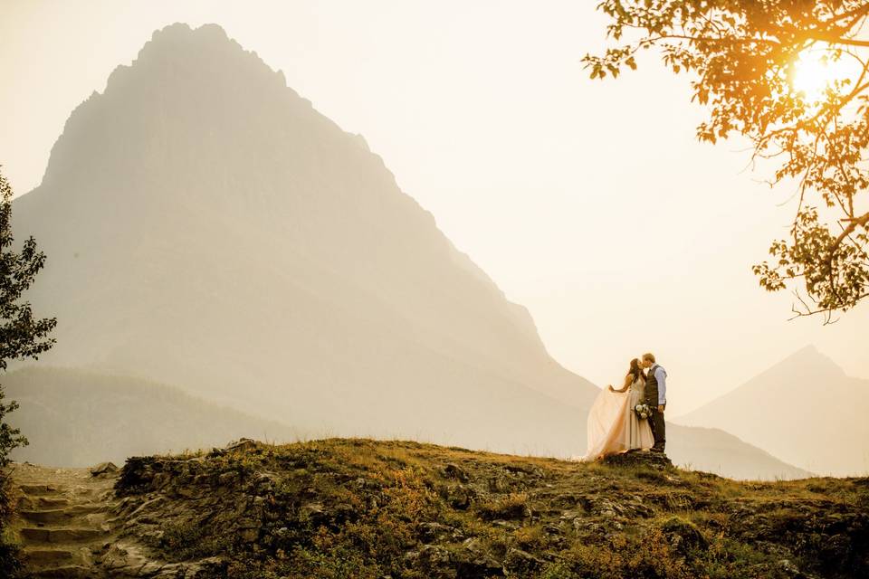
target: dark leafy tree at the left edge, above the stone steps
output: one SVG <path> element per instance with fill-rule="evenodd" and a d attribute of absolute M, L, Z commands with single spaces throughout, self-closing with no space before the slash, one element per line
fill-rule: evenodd
<path fill-rule="evenodd" d="M 12 247 L 12 186 L 0 172 L 0 370 L 5 371 L 9 360 L 32 357 L 54 345 L 49 337 L 57 325 L 56 318 L 34 319 L 30 302 L 24 301 L 24 291 L 33 284 L 36 273 L 43 269 L 45 254 L 36 248 L 33 237 L 27 239 L 21 252 Z M 21 432 L 5 422 L 5 416 L 18 408 L 14 401 L 4 403 L 0 385 L 0 467 L 9 463 L 9 452 L 27 443 Z"/>

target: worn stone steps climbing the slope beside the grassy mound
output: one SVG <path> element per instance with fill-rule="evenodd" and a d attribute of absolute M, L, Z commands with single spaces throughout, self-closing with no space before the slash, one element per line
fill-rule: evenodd
<path fill-rule="evenodd" d="M 107 476 L 108 475 L 108 476 Z M 18 520 L 14 525 L 24 547 L 31 577 L 102 577 L 97 561 L 112 544 L 106 522 L 114 477 L 88 469 L 14 467 L 18 482 Z"/>

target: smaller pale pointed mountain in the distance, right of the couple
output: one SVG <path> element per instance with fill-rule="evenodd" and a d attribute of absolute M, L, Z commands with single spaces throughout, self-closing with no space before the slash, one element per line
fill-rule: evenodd
<path fill-rule="evenodd" d="M 807 346 L 676 422 L 732 432 L 817 474 L 869 472 L 869 380 Z"/>

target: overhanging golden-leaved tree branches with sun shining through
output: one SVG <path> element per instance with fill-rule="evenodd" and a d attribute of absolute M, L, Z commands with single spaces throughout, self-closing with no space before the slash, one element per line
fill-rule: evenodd
<path fill-rule="evenodd" d="M 660 50 L 673 73 L 690 72 L 693 100 L 710 117 L 702 141 L 731 134 L 795 179 L 789 239 L 754 266 L 760 286 L 795 289 L 797 316 L 854 308 L 869 297 L 869 3 L 865 0 L 604 0 L 608 35 L 621 45 L 587 55 L 591 78 L 636 68 Z M 814 90 L 799 77 L 813 70 Z"/>

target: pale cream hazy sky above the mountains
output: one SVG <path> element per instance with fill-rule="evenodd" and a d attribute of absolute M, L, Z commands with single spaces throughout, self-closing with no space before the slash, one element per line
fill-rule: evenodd
<path fill-rule="evenodd" d="M 29 191 L 72 109 L 154 30 L 216 23 L 363 135 L 596 384 L 652 350 L 675 416 L 807 344 L 869 378 L 869 306 L 788 322 L 790 296 L 750 271 L 787 233 L 792 190 L 761 185 L 740 143 L 697 142 L 687 77 L 646 60 L 588 80 L 581 57 L 606 46 L 594 5 L 0 0 L 0 163 Z"/>

